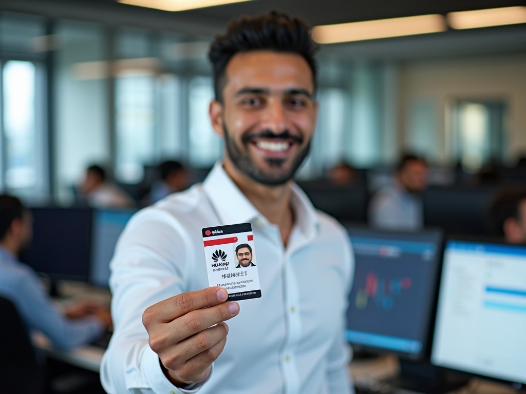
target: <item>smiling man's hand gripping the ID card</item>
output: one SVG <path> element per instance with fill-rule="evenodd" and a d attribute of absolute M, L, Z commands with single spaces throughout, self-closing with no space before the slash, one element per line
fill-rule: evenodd
<path fill-rule="evenodd" d="M 143 314 L 149 345 L 165 375 L 178 387 L 201 382 L 225 347 L 228 326 L 239 304 L 226 303 L 222 287 L 183 293 L 150 306 Z"/>

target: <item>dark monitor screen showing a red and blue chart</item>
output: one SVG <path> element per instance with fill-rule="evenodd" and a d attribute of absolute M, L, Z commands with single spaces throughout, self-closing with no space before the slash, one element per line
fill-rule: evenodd
<path fill-rule="evenodd" d="M 422 359 L 436 300 L 441 232 L 347 230 L 356 266 L 347 340 L 357 350 Z"/>

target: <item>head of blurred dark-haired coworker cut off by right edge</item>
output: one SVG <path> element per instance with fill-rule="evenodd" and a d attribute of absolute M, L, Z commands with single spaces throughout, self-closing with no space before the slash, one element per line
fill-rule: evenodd
<path fill-rule="evenodd" d="M 499 193 L 488 208 L 492 233 L 512 244 L 526 244 L 526 190 Z"/>

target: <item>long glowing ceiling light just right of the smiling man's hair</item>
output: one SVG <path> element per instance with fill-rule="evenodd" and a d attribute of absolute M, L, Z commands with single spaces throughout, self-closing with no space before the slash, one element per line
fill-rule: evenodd
<path fill-rule="evenodd" d="M 312 29 L 312 38 L 320 44 L 333 44 L 436 33 L 444 30 L 446 30 L 446 21 L 442 15 L 419 15 L 316 26 Z"/>

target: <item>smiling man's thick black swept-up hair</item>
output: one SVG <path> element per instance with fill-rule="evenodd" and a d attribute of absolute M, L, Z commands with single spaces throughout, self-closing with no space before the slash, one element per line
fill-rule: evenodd
<path fill-rule="evenodd" d="M 222 102 L 226 85 L 226 68 L 230 59 L 240 52 L 272 50 L 300 55 L 312 71 L 316 90 L 316 60 L 318 46 L 312 41 L 310 27 L 300 18 L 271 11 L 256 17 L 241 17 L 227 26 L 224 35 L 217 35 L 210 46 L 208 58 L 213 66 L 214 93 Z"/>

